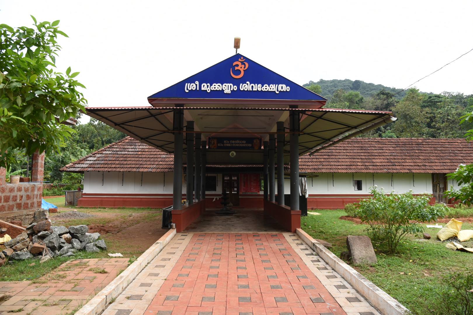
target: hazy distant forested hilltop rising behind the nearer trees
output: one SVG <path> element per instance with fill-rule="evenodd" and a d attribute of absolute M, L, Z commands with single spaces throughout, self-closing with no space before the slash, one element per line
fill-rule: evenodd
<path fill-rule="evenodd" d="M 320 85 L 322 88 L 322 96 L 324 96 L 327 100 L 330 100 L 332 98 L 332 95 L 335 93 L 336 90 L 338 89 L 343 89 L 344 91 L 357 91 L 361 96 L 363 97 L 369 97 L 372 96 L 373 94 L 376 94 L 377 92 L 381 90 L 385 90 L 388 92 L 392 92 L 393 94 L 399 92 L 402 89 L 396 89 L 394 87 L 388 87 L 382 84 L 374 84 L 374 83 L 366 83 L 364 81 L 360 80 L 350 80 L 350 79 L 344 79 L 344 80 L 323 80 L 320 79 L 317 82 L 314 81 L 309 81 L 309 83 L 306 83 L 304 86 L 308 87 L 310 85 Z M 394 97 L 398 100 L 402 99 L 406 95 L 406 91 L 403 91 L 399 94 L 396 94 Z"/>

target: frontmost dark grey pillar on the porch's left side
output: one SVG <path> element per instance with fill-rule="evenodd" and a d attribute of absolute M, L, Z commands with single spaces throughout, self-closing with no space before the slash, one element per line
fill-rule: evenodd
<path fill-rule="evenodd" d="M 174 132 L 174 182 L 173 182 L 173 209 L 182 209 L 182 148 L 184 129 L 184 110 L 174 110 L 173 130 Z"/>

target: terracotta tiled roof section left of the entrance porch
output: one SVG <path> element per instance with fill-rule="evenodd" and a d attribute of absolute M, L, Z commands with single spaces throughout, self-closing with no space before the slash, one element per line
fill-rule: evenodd
<path fill-rule="evenodd" d="M 66 165 L 61 171 L 172 172 L 173 164 L 173 154 L 159 151 L 127 136 Z"/>

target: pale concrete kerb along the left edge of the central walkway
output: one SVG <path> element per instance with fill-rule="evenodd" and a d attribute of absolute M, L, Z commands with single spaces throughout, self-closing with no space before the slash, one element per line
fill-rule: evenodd
<path fill-rule="evenodd" d="M 90 299 L 88 303 L 75 313 L 75 315 L 98 315 L 107 307 L 113 298 L 118 297 L 123 290 L 133 281 L 143 268 L 159 254 L 169 241 L 176 235 L 176 230 L 168 230 L 151 247 L 149 247 L 137 260 L 120 273 L 104 289 Z"/>

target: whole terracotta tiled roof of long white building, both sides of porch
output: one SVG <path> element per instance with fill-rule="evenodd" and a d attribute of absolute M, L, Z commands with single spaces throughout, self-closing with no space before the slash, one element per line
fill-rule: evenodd
<path fill-rule="evenodd" d="M 125 137 L 61 170 L 172 172 L 173 162 L 173 154 Z M 353 138 L 313 156 L 301 156 L 299 170 L 315 173 L 450 173 L 461 163 L 473 163 L 473 143 L 464 139 Z"/>

